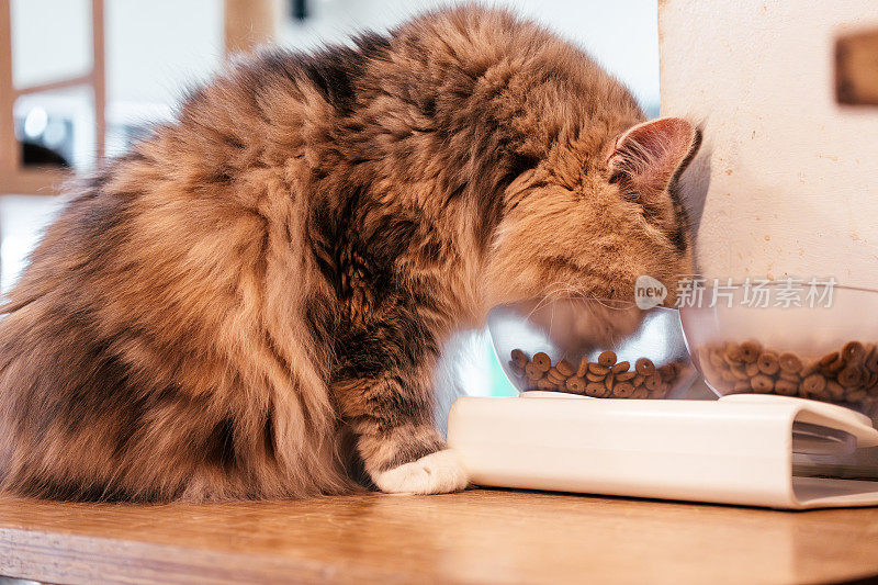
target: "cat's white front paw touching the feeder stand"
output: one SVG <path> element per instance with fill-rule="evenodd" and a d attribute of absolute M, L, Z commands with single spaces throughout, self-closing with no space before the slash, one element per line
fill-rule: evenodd
<path fill-rule="evenodd" d="M 450 449 L 375 475 L 375 485 L 389 494 L 447 494 L 470 483 L 457 453 Z"/>

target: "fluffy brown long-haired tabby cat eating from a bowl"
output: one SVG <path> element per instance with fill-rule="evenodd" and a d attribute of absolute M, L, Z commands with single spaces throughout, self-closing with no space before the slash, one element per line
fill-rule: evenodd
<path fill-rule="evenodd" d="M 238 63 L 77 188 L 10 293 L 2 488 L 460 490 L 431 416 L 444 340 L 552 291 L 631 299 L 640 274 L 673 302 L 698 142 L 472 5 Z"/>

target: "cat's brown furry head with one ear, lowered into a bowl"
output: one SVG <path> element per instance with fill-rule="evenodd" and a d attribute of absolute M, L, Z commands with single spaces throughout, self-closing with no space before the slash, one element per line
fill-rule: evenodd
<path fill-rule="evenodd" d="M 599 156 L 554 148 L 504 194 L 488 274 L 495 301 L 586 295 L 634 300 L 648 274 L 667 288 L 693 273 L 693 243 L 676 182 L 700 144 L 679 117 L 601 138 Z"/>

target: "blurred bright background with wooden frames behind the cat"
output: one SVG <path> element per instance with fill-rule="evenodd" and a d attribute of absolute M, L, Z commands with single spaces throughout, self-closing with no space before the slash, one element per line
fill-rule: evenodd
<path fill-rule="evenodd" d="M 387 30 L 440 0 L 0 0 L 0 289 L 52 221 L 69 171 L 172 117 L 228 55 L 307 50 Z M 499 0 L 588 50 L 658 113 L 656 0 Z M 511 394 L 486 335 L 463 342 L 471 394 Z"/>

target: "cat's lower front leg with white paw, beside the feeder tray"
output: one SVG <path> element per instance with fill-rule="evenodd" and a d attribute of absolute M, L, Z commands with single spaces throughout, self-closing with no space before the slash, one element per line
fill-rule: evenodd
<path fill-rule="evenodd" d="M 428 370 L 392 368 L 337 386 L 365 471 L 382 492 L 440 494 L 469 483 L 436 429 Z"/>

